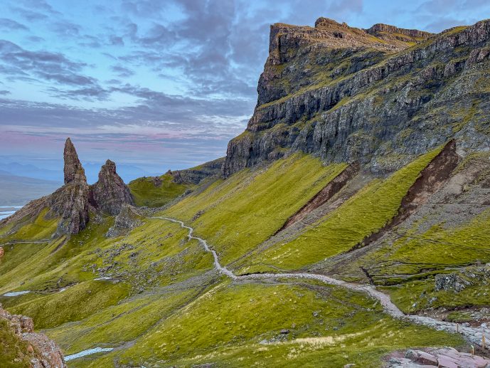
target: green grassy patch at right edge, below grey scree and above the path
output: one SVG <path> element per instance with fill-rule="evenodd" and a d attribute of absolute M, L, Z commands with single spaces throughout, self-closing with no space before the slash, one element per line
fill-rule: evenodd
<path fill-rule="evenodd" d="M 384 283 L 400 283 L 385 290 L 405 312 L 428 307 L 488 306 L 488 270 L 477 265 L 469 268 L 469 274 L 476 275 L 478 280 L 469 278 L 473 285 L 459 293 L 435 291 L 434 275 L 454 272 L 461 266 L 489 263 L 489 244 L 490 211 L 487 210 L 457 228 L 437 225 L 422 234 L 409 232 L 390 246 L 389 253 L 383 247 L 364 261 L 370 265 L 378 263 L 379 268 L 373 270 L 375 278 L 383 278 Z M 412 276 L 412 280 L 403 280 L 397 275 Z"/>

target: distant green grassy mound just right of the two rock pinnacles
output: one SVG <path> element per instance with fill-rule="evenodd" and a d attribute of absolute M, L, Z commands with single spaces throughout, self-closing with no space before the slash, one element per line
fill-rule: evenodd
<path fill-rule="evenodd" d="M 191 187 L 190 184 L 175 183 L 171 174 L 161 175 L 160 179 L 159 186 L 155 186 L 153 177 L 135 179 L 128 184 L 137 206 L 164 206 Z"/>

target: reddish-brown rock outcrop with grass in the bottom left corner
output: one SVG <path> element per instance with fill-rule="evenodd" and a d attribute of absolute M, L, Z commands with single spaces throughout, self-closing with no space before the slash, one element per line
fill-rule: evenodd
<path fill-rule="evenodd" d="M 46 335 L 33 332 L 34 323 L 29 317 L 23 315 L 11 315 L 2 309 L 0 304 L 0 324 L 6 327 L 9 334 L 9 345 L 0 347 L 0 363 L 6 367 L 27 367 L 33 368 L 65 368 L 65 360 L 61 349 L 53 340 Z M 2 354 L 3 348 L 6 349 Z M 12 361 L 4 361 L 10 358 L 12 350 L 18 352 Z M 1 365 L 0 364 L 0 365 Z"/>

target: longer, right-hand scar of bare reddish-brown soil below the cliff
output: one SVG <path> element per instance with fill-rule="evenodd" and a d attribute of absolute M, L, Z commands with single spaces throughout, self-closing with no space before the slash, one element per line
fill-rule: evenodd
<path fill-rule="evenodd" d="M 415 183 L 410 186 L 407 194 L 402 199 L 398 214 L 385 227 L 376 233 L 372 233 L 370 236 L 366 236 L 361 243 L 351 248 L 350 251 L 363 248 L 373 243 L 373 241 L 377 241 L 386 232 L 401 224 L 422 206 L 422 204 L 427 203 L 430 196 L 440 189 L 447 179 L 449 179 L 459 164 L 459 159 L 460 157 L 456 153 L 456 142 L 451 140 L 445 145 L 440 154 L 437 154 L 427 167 L 422 170 L 420 177 L 415 180 Z"/>

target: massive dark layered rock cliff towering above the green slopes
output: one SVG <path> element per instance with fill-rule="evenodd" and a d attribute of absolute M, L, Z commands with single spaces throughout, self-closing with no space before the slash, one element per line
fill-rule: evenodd
<path fill-rule="evenodd" d="M 437 35 L 319 19 L 275 24 L 245 132 L 223 176 L 295 151 L 391 172 L 454 138 L 490 147 L 490 21 Z"/>

